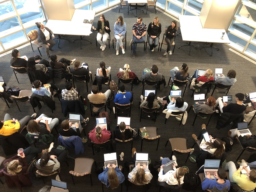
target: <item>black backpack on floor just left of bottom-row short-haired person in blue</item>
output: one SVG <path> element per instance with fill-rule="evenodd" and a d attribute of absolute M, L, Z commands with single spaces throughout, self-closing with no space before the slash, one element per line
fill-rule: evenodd
<path fill-rule="evenodd" d="M 186 173 L 184 175 L 182 188 L 185 190 L 194 190 L 198 185 L 200 185 L 201 180 L 195 173 Z"/>

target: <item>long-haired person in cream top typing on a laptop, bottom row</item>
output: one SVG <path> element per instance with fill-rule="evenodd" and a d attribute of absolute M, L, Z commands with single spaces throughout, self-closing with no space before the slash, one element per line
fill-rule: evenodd
<path fill-rule="evenodd" d="M 138 164 L 136 166 L 136 149 L 132 148 L 132 158 L 133 158 L 133 170 L 128 174 L 129 180 L 135 185 L 146 185 L 150 183 L 153 175 L 150 173 L 150 170 L 147 168 L 146 164 Z"/>

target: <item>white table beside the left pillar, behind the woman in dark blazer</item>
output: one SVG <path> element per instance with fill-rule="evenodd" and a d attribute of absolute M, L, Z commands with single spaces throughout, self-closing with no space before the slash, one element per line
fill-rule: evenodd
<path fill-rule="evenodd" d="M 80 36 L 80 39 L 75 39 L 72 42 L 76 40 L 80 40 L 80 49 L 81 49 L 82 40 L 88 41 L 83 39 L 83 36 L 89 36 L 92 33 L 91 32 L 92 24 L 83 23 L 83 21 L 84 19 L 93 21 L 94 16 L 95 16 L 95 11 L 76 9 L 72 16 L 71 21 L 49 19 L 46 23 L 46 27 L 50 28 L 54 34 L 58 34 L 58 38 L 54 38 L 54 39 L 59 39 L 58 48 L 60 48 L 59 47 L 60 39 L 69 41 L 68 39 L 61 37 L 62 35 L 78 35 Z M 92 43 L 91 41 L 88 41 L 88 42 Z"/>

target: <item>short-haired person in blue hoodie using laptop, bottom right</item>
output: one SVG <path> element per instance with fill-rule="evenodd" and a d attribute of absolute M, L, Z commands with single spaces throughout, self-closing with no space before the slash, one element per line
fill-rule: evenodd
<path fill-rule="evenodd" d="M 210 173 L 207 173 L 205 180 L 202 182 L 202 189 L 218 189 L 220 192 L 228 192 L 230 190 L 230 181 L 226 180 L 226 171 L 219 168 L 218 172 L 214 173 L 216 179 L 210 179 Z"/>

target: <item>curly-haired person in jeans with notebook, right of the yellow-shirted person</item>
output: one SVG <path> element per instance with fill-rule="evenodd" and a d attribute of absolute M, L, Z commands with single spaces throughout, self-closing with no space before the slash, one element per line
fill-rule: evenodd
<path fill-rule="evenodd" d="M 50 134 L 53 127 L 59 124 L 59 119 L 54 118 L 51 120 L 51 123 L 48 123 L 48 120 L 44 120 L 44 122 L 40 122 L 43 120 L 43 117 L 47 117 L 45 114 L 41 114 L 38 118 L 35 120 L 30 120 L 27 125 L 27 131 L 29 134 L 32 135 L 44 135 L 44 134 Z"/>

